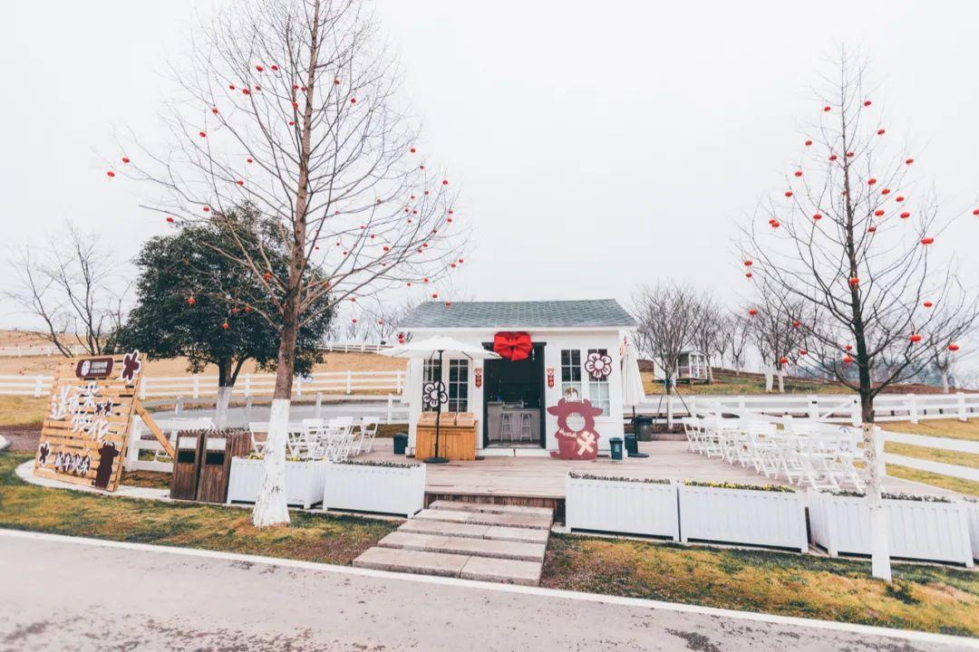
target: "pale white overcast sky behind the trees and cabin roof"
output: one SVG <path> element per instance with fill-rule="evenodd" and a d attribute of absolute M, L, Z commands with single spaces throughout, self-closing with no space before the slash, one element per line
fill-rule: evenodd
<path fill-rule="evenodd" d="M 166 62 L 181 62 L 195 16 L 220 2 L 4 4 L 3 240 L 70 218 L 128 259 L 163 225 L 136 188 L 107 181 L 113 132 L 160 133 Z M 747 291 L 735 225 L 782 188 L 840 44 L 870 60 L 889 131 L 909 137 L 943 205 L 971 209 L 979 194 L 979 3 L 375 8 L 422 147 L 475 228 L 458 294 L 628 301 L 673 277 L 735 301 Z M 963 218 L 941 244 L 967 257 L 977 235 L 979 220 Z M 979 265 L 963 267 L 974 286 Z M 0 326 L 27 326 L 3 312 Z"/>

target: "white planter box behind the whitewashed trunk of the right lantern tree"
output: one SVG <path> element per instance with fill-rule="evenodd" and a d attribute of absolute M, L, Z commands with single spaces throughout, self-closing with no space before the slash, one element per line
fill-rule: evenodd
<path fill-rule="evenodd" d="M 972 566 L 966 505 L 960 502 L 884 500 L 892 557 L 950 561 Z M 810 494 L 813 539 L 831 556 L 870 554 L 870 508 L 866 499 Z"/>

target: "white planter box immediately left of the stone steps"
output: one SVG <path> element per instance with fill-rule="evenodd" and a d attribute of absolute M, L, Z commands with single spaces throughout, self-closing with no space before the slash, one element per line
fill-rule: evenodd
<path fill-rule="evenodd" d="M 323 509 L 414 516 L 425 506 L 425 464 L 327 464 Z"/>

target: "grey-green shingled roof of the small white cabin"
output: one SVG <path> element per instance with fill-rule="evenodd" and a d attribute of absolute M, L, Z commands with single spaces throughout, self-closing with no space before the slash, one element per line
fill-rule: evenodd
<path fill-rule="evenodd" d="M 635 320 L 615 299 L 586 301 L 429 301 L 398 324 L 401 328 L 631 327 Z"/>

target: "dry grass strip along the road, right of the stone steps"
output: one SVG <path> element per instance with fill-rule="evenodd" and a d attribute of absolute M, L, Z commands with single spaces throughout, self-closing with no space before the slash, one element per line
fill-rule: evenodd
<path fill-rule="evenodd" d="M 979 574 L 758 550 L 551 537 L 541 586 L 979 636 Z"/>

